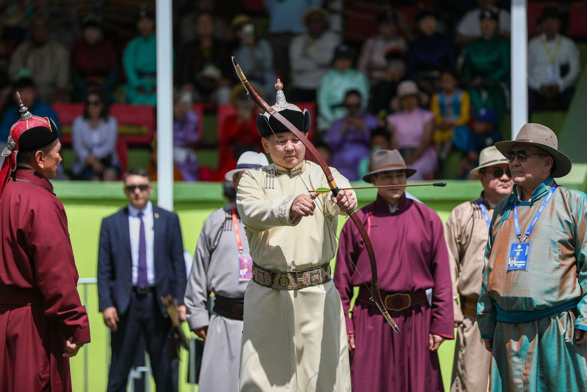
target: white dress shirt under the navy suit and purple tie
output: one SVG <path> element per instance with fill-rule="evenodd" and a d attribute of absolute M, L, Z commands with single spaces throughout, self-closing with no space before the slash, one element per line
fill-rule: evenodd
<path fill-rule="evenodd" d="M 153 263 L 153 204 L 147 203 L 144 209 L 139 210 L 129 204 L 129 232 L 130 232 L 130 254 L 133 257 L 133 286 L 137 286 L 139 279 L 139 230 L 141 220 L 139 213 L 143 212 L 145 226 L 145 239 L 147 242 L 147 282 L 149 286 L 155 284 L 155 266 Z"/>

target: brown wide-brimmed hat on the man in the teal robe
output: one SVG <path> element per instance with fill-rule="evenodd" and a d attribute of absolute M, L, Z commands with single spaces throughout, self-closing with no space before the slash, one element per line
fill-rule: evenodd
<path fill-rule="evenodd" d="M 546 150 L 554 160 L 555 170 L 553 177 L 564 177 L 571 171 L 571 159 L 558 150 L 558 139 L 550 128 L 540 124 L 529 123 L 520 128 L 515 140 L 497 142 L 495 147 L 505 156 L 514 145 L 528 144 Z"/>

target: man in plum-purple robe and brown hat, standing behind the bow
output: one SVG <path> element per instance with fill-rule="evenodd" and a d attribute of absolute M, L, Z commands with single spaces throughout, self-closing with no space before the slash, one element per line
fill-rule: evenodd
<path fill-rule="evenodd" d="M 397 150 L 376 151 L 370 167 L 363 180 L 375 186 L 406 185 L 416 173 Z M 402 334 L 389 328 L 369 300 L 361 278 L 370 284 L 369 255 L 356 226 L 347 222 L 340 233 L 334 280 L 345 314 L 354 391 L 443 390 L 437 350 L 454 335 L 443 226 L 434 210 L 408 199 L 405 191 L 379 188 L 375 202 L 357 211 L 377 257 L 383 303 Z M 356 286 L 359 296 L 350 318 Z"/>

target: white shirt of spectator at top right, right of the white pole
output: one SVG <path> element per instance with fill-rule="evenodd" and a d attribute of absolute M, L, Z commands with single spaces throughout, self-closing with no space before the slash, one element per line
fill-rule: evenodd
<path fill-rule="evenodd" d="M 581 73 L 579 58 L 577 45 L 568 37 L 557 34 L 546 41 L 542 33 L 532 38 L 528 43 L 528 86 L 539 90 L 543 85 L 558 85 L 559 91 L 566 90 Z M 569 65 L 569 72 L 561 77 L 561 65 L 565 64 Z"/>

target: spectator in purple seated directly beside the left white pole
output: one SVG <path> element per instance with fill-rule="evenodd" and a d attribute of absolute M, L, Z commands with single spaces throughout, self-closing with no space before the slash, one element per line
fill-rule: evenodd
<path fill-rule="evenodd" d="M 185 182 L 197 181 L 198 158 L 194 148 L 200 140 L 200 118 L 189 92 L 176 93 L 173 98 L 173 163 Z"/>

